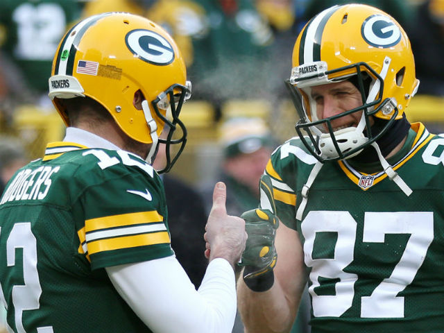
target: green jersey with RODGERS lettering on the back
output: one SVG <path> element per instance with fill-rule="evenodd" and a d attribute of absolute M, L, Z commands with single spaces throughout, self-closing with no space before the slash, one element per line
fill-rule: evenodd
<path fill-rule="evenodd" d="M 151 332 L 105 267 L 173 255 L 167 219 L 162 180 L 144 160 L 49 144 L 0 199 L 8 325 L 30 333 Z"/>

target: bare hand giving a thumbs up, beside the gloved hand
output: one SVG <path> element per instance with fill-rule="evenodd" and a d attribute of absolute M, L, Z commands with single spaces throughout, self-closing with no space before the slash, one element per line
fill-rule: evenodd
<path fill-rule="evenodd" d="M 205 257 L 224 258 L 234 268 L 245 249 L 247 234 L 245 222 L 237 216 L 227 215 L 225 208 L 226 187 L 218 182 L 214 187 L 213 206 L 205 225 Z"/>

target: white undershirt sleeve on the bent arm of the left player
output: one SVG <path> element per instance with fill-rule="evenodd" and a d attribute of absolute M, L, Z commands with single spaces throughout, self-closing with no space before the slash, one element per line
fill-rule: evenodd
<path fill-rule="evenodd" d="M 236 287 L 230 264 L 216 258 L 198 291 L 176 257 L 107 267 L 137 316 L 156 333 L 230 333 L 236 316 Z"/>

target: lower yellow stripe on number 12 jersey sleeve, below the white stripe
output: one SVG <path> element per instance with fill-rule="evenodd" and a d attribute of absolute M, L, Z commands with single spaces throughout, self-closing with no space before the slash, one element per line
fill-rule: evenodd
<path fill-rule="evenodd" d="M 119 250 L 121 248 L 135 248 L 154 244 L 169 244 L 169 234 L 164 232 L 153 232 L 151 234 L 136 234 L 127 237 L 100 239 L 88 243 L 88 253 L 92 255 L 103 251 Z"/>

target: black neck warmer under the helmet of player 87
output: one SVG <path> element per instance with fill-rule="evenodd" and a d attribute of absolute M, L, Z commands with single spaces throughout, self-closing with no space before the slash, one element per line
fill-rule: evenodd
<path fill-rule="evenodd" d="M 373 135 L 377 135 L 386 125 L 386 120 L 379 118 L 374 119 L 375 123 L 372 126 L 372 133 Z M 393 121 L 393 126 L 391 126 L 391 128 L 388 128 L 386 133 L 377 140 L 377 144 L 381 149 L 381 153 L 384 157 L 387 156 L 391 151 L 393 151 L 393 148 L 395 148 L 395 146 L 398 146 L 398 144 L 400 144 L 402 139 L 404 139 L 404 137 L 406 137 L 407 133 L 409 132 L 409 128 L 410 123 L 409 121 L 407 121 L 405 114 L 402 114 L 402 119 Z M 359 155 L 352 157 L 351 160 L 357 163 L 371 163 L 379 161 L 375 148 L 373 148 L 372 146 L 367 146 L 366 148 L 364 148 L 363 151 L 361 151 L 361 153 L 359 153 Z"/>

